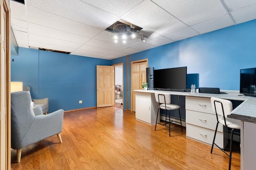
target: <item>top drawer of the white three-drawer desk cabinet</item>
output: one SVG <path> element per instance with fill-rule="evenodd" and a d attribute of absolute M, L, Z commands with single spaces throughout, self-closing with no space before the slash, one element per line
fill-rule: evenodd
<path fill-rule="evenodd" d="M 210 98 L 199 98 L 186 96 L 186 110 L 200 111 L 204 113 L 215 114 L 212 110 Z"/>

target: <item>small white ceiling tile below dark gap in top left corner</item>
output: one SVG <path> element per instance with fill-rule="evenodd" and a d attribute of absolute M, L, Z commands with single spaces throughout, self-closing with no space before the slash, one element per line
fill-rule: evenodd
<path fill-rule="evenodd" d="M 16 18 L 22 21 L 26 21 L 25 5 L 19 2 L 10 0 L 11 18 Z"/>

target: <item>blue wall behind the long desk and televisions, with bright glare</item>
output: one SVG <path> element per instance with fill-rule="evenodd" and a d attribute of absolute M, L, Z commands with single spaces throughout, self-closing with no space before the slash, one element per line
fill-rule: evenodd
<path fill-rule="evenodd" d="M 256 67 L 256 20 L 132 54 L 129 75 L 131 61 L 146 58 L 154 69 L 187 66 L 199 87 L 239 90 L 240 69 Z"/>

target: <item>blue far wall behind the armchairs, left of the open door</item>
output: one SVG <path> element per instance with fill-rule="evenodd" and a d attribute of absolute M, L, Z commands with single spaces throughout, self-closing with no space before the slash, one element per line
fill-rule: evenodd
<path fill-rule="evenodd" d="M 49 112 L 95 107 L 96 65 L 110 65 L 109 60 L 26 48 L 11 59 L 11 81 L 30 86 L 32 98 L 49 98 Z"/>

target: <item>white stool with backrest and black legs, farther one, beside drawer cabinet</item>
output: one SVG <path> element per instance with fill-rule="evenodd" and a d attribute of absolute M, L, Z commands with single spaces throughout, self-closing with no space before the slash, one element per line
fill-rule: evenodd
<path fill-rule="evenodd" d="M 167 127 L 167 120 L 169 120 L 169 137 L 171 136 L 171 122 L 176 122 L 176 123 L 180 123 L 181 126 L 181 131 L 182 130 L 182 123 L 181 123 L 181 117 L 180 117 L 180 121 L 175 121 L 174 119 L 171 120 L 171 115 L 170 115 L 170 111 L 171 110 L 175 110 L 175 109 L 179 109 L 179 115 L 180 115 L 180 106 L 176 105 L 176 104 L 171 104 L 171 95 L 168 93 L 161 93 L 161 92 L 157 92 L 155 93 L 155 98 L 156 98 L 156 102 L 158 102 L 159 106 L 158 106 L 158 111 L 157 111 L 157 116 L 156 116 L 156 124 L 160 124 L 160 125 L 164 125 Z M 165 123 L 158 123 L 158 115 L 160 115 L 160 110 L 163 109 L 165 110 Z M 169 115 L 167 115 L 167 111 L 169 111 Z M 168 118 L 168 119 L 167 119 Z M 155 130 L 156 130 L 156 126 L 155 126 Z"/>

